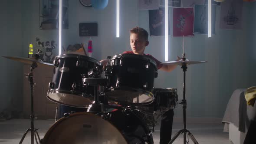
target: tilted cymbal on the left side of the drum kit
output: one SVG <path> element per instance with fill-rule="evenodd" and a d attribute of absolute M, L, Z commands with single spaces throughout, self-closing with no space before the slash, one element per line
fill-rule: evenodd
<path fill-rule="evenodd" d="M 12 60 L 15 60 L 15 61 L 18 61 L 18 62 L 22 62 L 22 63 L 25 63 L 25 64 L 29 64 L 31 65 L 32 62 L 36 62 L 37 65 L 39 66 L 54 66 L 53 64 L 51 63 L 47 63 L 47 62 L 43 62 L 41 59 L 29 59 L 29 58 L 23 58 L 23 57 L 16 57 L 16 56 L 3 56 L 4 58 L 7 58 L 7 59 L 12 59 Z"/>

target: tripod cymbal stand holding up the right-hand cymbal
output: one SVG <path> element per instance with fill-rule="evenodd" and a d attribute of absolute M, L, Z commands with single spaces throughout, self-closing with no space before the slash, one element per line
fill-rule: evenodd
<path fill-rule="evenodd" d="M 183 56 L 182 59 L 185 61 L 186 60 L 186 54 L 184 52 L 184 36 L 183 36 Z M 186 71 L 187 71 L 187 65 L 186 64 L 181 64 L 181 69 L 183 70 L 183 100 L 181 100 L 181 102 L 179 104 L 182 105 L 183 108 L 183 129 L 181 129 L 180 131 L 178 131 L 174 137 L 171 139 L 171 141 L 169 141 L 168 144 L 172 144 L 175 139 L 181 134 L 183 133 L 183 140 L 184 140 L 184 144 L 187 144 L 188 141 L 186 139 L 186 134 L 188 134 L 188 136 L 191 138 L 191 140 L 194 142 L 194 144 L 198 144 L 197 140 L 195 139 L 195 137 L 193 136 L 193 134 L 190 133 L 190 131 L 188 131 L 186 129 L 186 108 L 187 108 L 187 101 L 186 101 Z"/>

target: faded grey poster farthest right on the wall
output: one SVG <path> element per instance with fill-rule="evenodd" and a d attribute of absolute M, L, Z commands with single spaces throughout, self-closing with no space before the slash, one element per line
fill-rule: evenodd
<path fill-rule="evenodd" d="M 221 4 L 220 29 L 242 28 L 243 1 L 225 0 Z"/>

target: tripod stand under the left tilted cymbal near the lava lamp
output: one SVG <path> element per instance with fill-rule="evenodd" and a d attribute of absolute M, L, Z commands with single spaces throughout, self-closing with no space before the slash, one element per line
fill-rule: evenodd
<path fill-rule="evenodd" d="M 40 51 L 38 51 L 39 54 Z M 39 58 L 39 55 L 35 54 L 35 57 Z M 30 67 L 30 73 L 26 74 L 26 77 L 28 78 L 30 82 L 30 90 L 31 90 L 31 115 L 30 115 L 30 128 L 26 130 L 26 132 L 23 134 L 23 137 L 20 140 L 19 144 L 22 144 L 24 138 L 26 137 L 26 134 L 31 131 L 31 144 L 34 144 L 34 138 L 36 140 L 36 144 L 39 144 L 40 137 L 37 132 L 38 128 L 34 127 L 34 120 L 35 120 L 35 115 L 34 115 L 34 100 L 33 100 L 33 92 L 34 92 L 34 85 L 35 83 L 33 82 L 33 70 L 37 67 L 36 62 L 32 62 L 32 65 Z M 35 136 L 35 137 L 34 137 Z"/>

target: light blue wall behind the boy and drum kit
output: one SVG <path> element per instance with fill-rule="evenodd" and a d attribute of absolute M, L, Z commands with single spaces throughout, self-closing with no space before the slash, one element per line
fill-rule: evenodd
<path fill-rule="evenodd" d="M 21 39 L 16 45 L 22 46 L 17 54 L 23 53 L 22 55 L 26 56 L 27 44 L 30 41 L 34 42 L 36 37 L 42 41 L 53 39 L 58 43 L 58 30 L 39 29 L 39 0 L 25 0 L 24 3 L 30 5 L 30 9 L 23 9 L 24 15 L 21 16 L 20 22 L 22 30 L 19 35 L 15 36 L 20 36 Z M 141 26 L 149 30 L 148 11 L 138 11 L 138 0 L 121 0 L 120 6 L 120 38 L 116 38 L 115 0 L 109 0 L 108 6 L 104 10 L 83 7 L 79 0 L 69 0 L 69 29 L 63 30 L 63 46 L 87 42 L 89 37 L 79 37 L 79 23 L 97 22 L 98 36 L 92 37 L 95 59 L 105 59 L 107 56 L 130 50 L 128 31 L 134 26 Z M 185 37 L 187 59 L 208 61 L 208 63 L 188 66 L 186 98 L 189 117 L 222 118 L 226 104 L 236 88 L 248 88 L 256 85 L 254 76 L 256 42 L 253 40 L 256 37 L 254 34 L 256 19 L 253 16 L 253 13 L 256 14 L 255 7 L 256 3 L 243 3 L 243 29 L 219 29 L 220 7 L 217 7 L 216 34 L 212 38 L 208 38 L 207 35 Z M 171 10 L 170 8 L 170 20 L 172 18 Z M 9 26 L 8 29 L 12 29 L 12 27 Z M 8 41 L 12 40 L 8 38 Z M 150 44 L 145 53 L 150 53 L 155 58 L 164 61 L 164 37 L 150 37 L 149 41 Z M 169 61 L 181 56 L 181 46 L 182 38 L 169 36 Z M 6 55 L 13 54 L 7 52 Z M 8 71 L 3 72 L 9 73 Z M 177 67 L 171 73 L 161 71 L 158 73 L 155 87 L 177 88 L 181 100 L 182 69 Z M 7 80 L 6 77 L 3 77 L 4 83 L 8 82 Z M 18 86 L 16 85 L 16 87 Z M 8 93 L 6 89 L 8 89 L 7 86 L 3 89 L 5 95 Z M 5 98 L 8 97 L 5 95 L 1 96 L 3 101 L 6 101 Z M 181 105 L 175 109 L 175 115 L 178 117 L 182 115 Z"/>

